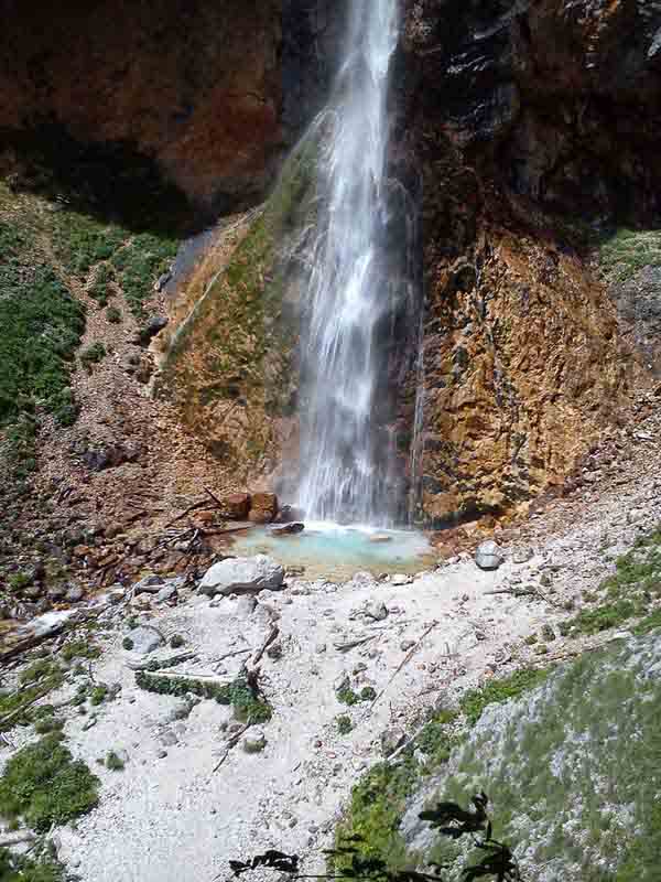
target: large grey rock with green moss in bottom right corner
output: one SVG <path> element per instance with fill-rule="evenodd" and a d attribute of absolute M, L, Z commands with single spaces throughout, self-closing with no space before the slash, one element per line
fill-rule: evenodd
<path fill-rule="evenodd" d="M 397 829 L 412 860 L 449 860 L 418 814 L 438 799 L 491 800 L 495 837 L 530 882 L 652 882 L 661 865 L 661 637 L 610 644 L 491 704 L 441 775 L 408 802 Z"/>

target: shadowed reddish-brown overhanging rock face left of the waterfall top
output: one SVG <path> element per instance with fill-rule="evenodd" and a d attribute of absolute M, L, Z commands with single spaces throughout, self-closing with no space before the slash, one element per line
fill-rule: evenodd
<path fill-rule="evenodd" d="M 98 185 L 104 200 L 145 181 L 154 198 L 171 186 L 203 207 L 254 197 L 295 137 L 301 98 L 311 106 L 300 86 L 305 96 L 285 115 L 283 72 L 319 86 L 326 76 L 291 37 L 295 21 L 314 45 L 318 3 L 284 4 L 284 43 L 282 0 L 69 3 L 55 19 L 45 2 L 10 6 L 0 35 L 0 143 L 21 162 L 36 151 L 65 176 Z M 121 174 L 108 186 L 112 172 Z"/>

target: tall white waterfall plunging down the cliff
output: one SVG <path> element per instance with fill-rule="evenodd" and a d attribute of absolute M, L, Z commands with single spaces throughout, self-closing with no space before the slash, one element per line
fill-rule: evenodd
<path fill-rule="evenodd" d="M 383 524 L 392 509 L 379 410 L 382 329 L 397 284 L 386 166 L 398 2 L 348 4 L 344 57 L 323 115 L 301 347 L 299 503 L 312 519 Z"/>

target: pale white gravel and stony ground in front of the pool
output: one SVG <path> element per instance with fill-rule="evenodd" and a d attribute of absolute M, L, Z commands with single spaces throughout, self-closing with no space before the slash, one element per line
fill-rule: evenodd
<path fill-rule="evenodd" d="M 567 622 L 595 603 L 615 558 L 661 520 L 659 413 L 648 405 L 639 423 L 595 451 L 583 486 L 497 530 L 497 570 L 462 552 L 415 578 L 289 579 L 275 591 L 213 598 L 195 581 L 154 578 L 97 598 L 102 654 L 90 676 L 117 695 L 85 716 L 65 711 L 71 750 L 101 789 L 97 809 L 53 833 L 61 857 L 89 882 L 212 880 L 228 860 L 270 847 L 318 865 L 353 784 L 430 709 L 618 633 L 568 632 Z M 165 645 L 175 634 L 176 652 Z M 257 668 L 272 719 L 245 729 L 213 700 L 138 687 L 137 667 L 177 653 L 159 675 L 224 684 Z M 365 700 L 343 703 L 347 687 L 358 698 L 367 688 Z M 4 739 L 3 762 L 33 734 L 18 728 Z M 110 750 L 123 771 L 96 764 Z"/>

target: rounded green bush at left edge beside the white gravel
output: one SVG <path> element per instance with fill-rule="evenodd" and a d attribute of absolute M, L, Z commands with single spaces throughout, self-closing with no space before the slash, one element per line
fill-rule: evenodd
<path fill-rule="evenodd" d="M 0 815 L 23 818 L 44 832 L 67 824 L 98 803 L 98 778 L 74 761 L 59 733 L 48 734 L 18 751 L 0 777 Z"/>

